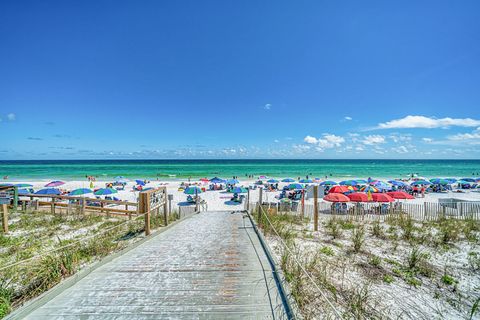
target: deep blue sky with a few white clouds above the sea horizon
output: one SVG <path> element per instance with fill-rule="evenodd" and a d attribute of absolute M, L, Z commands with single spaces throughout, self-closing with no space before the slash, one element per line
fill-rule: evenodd
<path fill-rule="evenodd" d="M 2 1 L 0 159 L 480 158 L 479 1 Z"/>

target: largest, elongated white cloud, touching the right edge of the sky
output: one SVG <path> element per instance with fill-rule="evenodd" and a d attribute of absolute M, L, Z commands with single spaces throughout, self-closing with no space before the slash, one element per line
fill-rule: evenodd
<path fill-rule="evenodd" d="M 404 129 L 404 128 L 447 128 L 451 126 L 458 127 L 476 127 L 480 126 L 480 120 L 471 118 L 441 118 L 436 119 L 425 116 L 406 116 L 402 119 L 396 119 L 385 123 L 379 123 L 374 129 Z"/>

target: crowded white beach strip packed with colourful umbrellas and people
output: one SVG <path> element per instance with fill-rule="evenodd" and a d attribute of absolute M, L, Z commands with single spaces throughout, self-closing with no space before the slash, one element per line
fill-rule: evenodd
<path fill-rule="evenodd" d="M 394 202 L 406 200 L 413 203 L 438 202 L 441 198 L 456 198 L 464 201 L 480 201 L 480 178 L 425 178 L 407 179 L 322 179 L 272 178 L 250 175 L 247 179 L 234 176 L 228 179 L 211 177 L 201 179 L 150 181 L 127 179 L 122 176 L 100 181 L 87 176 L 85 180 L 61 181 L 15 181 L 5 180 L 0 185 L 14 185 L 19 195 L 54 194 L 107 200 L 136 202 L 141 191 L 166 187 L 173 195 L 173 204 L 190 206 L 206 204 L 209 210 L 240 210 L 245 201 L 311 203 L 313 186 L 319 188 L 319 200 L 329 202 Z M 247 200 L 249 199 L 249 200 Z"/>

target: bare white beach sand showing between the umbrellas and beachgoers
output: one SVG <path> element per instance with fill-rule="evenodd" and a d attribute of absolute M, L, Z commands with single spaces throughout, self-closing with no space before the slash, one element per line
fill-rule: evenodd
<path fill-rule="evenodd" d="M 335 179 L 334 179 L 335 180 Z M 337 179 L 335 181 L 340 181 L 341 179 Z M 389 180 L 389 178 L 381 179 L 383 181 Z M 15 181 L 15 183 L 29 183 L 33 185 L 35 190 L 39 190 L 44 188 L 44 185 L 50 182 L 50 180 L 37 180 L 37 181 Z M 104 188 L 105 184 L 109 181 L 96 181 L 94 182 L 94 188 Z M 170 181 L 152 181 L 146 185 L 146 187 L 158 187 L 158 186 L 166 186 L 167 192 L 169 194 L 173 194 L 173 201 L 172 205 L 176 206 L 180 205 L 187 205 L 186 199 L 187 195 L 183 194 L 183 191 L 179 191 L 179 186 L 182 181 L 177 180 L 170 180 Z M 185 181 L 186 182 L 186 181 Z M 196 182 L 200 187 L 205 187 L 208 189 L 208 183 L 201 183 Z M 255 180 L 240 180 L 241 186 L 248 187 L 254 185 Z M 127 183 L 125 190 L 119 191 L 117 194 L 114 194 L 116 198 L 126 201 L 136 202 L 138 198 L 138 191 L 133 191 L 133 186 L 135 185 L 135 181 L 130 181 Z M 279 183 L 279 188 L 283 188 L 288 183 Z M 60 189 L 66 190 L 73 190 L 77 188 L 89 188 L 90 182 L 89 181 L 68 181 L 63 186 L 60 186 Z M 480 191 L 480 189 L 478 189 Z M 277 192 L 263 192 L 263 201 L 267 202 L 276 202 L 278 201 L 275 196 L 279 195 L 280 191 Z M 93 197 L 92 194 L 89 195 Z M 234 204 L 230 202 L 230 198 L 232 197 L 231 193 L 226 193 L 225 191 L 206 191 L 200 194 L 200 197 L 207 202 L 208 210 L 242 210 L 243 205 Z M 250 202 L 258 201 L 259 191 L 251 190 L 250 191 Z M 457 198 L 461 200 L 467 201 L 480 201 L 480 192 L 476 191 L 464 191 L 464 193 L 457 193 L 457 192 L 448 192 L 448 193 L 430 193 L 426 194 L 425 198 L 416 198 L 414 200 L 409 200 L 409 203 L 423 203 L 423 202 L 438 202 L 440 198 Z M 313 199 L 307 199 L 307 204 L 313 203 Z"/>

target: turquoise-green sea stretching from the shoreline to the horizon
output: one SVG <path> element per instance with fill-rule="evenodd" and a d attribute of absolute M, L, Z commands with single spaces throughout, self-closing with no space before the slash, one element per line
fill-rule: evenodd
<path fill-rule="evenodd" d="M 147 179 L 200 177 L 469 177 L 480 160 L 49 160 L 0 161 L 0 176 L 10 180 L 99 179 L 115 176 Z"/>

